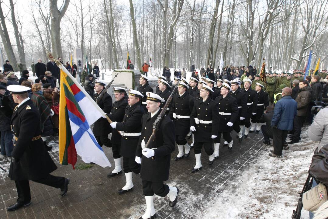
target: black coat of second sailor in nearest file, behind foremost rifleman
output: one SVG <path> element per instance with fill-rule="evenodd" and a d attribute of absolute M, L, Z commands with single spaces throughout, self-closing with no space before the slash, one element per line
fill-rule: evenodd
<path fill-rule="evenodd" d="M 196 124 L 195 118 L 199 120 L 211 121 L 212 123 Z M 194 108 L 190 116 L 190 126 L 195 126 L 195 142 L 212 142 L 211 135 L 217 135 L 219 129 L 218 104 L 210 97 L 203 101 L 202 98 L 196 99 Z"/>

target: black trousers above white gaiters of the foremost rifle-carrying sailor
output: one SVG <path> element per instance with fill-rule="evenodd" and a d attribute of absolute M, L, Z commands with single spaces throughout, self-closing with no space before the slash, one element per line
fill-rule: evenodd
<path fill-rule="evenodd" d="M 165 197 L 170 191 L 168 185 L 163 182 L 150 182 L 147 180 L 142 180 L 142 190 L 145 196 L 153 196 L 154 194 Z"/>

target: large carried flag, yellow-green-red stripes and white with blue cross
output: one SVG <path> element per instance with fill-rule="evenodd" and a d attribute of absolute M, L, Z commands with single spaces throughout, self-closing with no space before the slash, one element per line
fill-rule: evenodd
<path fill-rule="evenodd" d="M 85 163 L 111 166 L 96 141 L 90 125 L 106 114 L 86 93 L 63 65 L 60 68 L 59 99 L 59 161 L 63 165 L 77 161 L 77 154 Z"/>

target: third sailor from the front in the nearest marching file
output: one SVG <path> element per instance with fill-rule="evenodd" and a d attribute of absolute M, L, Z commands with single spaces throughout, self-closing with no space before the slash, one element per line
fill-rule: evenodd
<path fill-rule="evenodd" d="M 219 156 L 219 143 L 221 139 L 221 134 L 223 134 L 223 139 L 228 142 L 228 149 L 232 149 L 232 138 L 230 133 L 232 132 L 233 125 L 238 117 L 238 104 L 236 98 L 230 95 L 231 87 L 227 83 L 222 84 L 221 96 L 215 98 L 215 102 L 218 103 L 218 115 L 219 115 L 219 128 L 217 137 L 214 140 L 215 146 L 215 158 Z"/>

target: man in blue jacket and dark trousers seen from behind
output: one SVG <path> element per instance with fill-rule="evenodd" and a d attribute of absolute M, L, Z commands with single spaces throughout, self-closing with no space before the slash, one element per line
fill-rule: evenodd
<path fill-rule="evenodd" d="M 271 126 L 273 127 L 273 150 L 271 157 L 280 158 L 283 144 L 287 138 L 288 131 L 293 130 L 294 117 L 297 113 L 297 102 L 291 97 L 292 89 L 282 89 L 282 98 L 276 103 Z"/>

